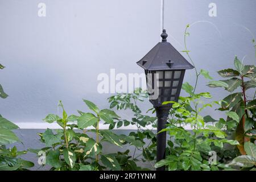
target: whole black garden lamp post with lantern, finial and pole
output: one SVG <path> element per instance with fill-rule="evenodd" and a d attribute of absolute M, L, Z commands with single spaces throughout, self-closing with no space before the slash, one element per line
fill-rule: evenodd
<path fill-rule="evenodd" d="M 162 105 L 164 101 L 179 99 L 186 69 L 193 69 L 193 65 L 167 42 L 166 30 L 161 34 L 162 42 L 156 44 L 150 52 L 137 62 L 146 74 L 147 92 L 158 117 L 158 132 L 166 127 L 167 118 L 172 104 Z M 165 159 L 166 132 L 157 135 L 156 161 Z M 164 171 L 165 167 L 157 168 Z"/>

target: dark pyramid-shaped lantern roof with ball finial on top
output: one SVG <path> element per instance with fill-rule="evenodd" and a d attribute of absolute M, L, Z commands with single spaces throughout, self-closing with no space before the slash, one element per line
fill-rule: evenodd
<path fill-rule="evenodd" d="M 148 71 L 193 69 L 193 65 L 167 42 L 167 36 L 166 30 L 163 30 L 162 42 L 156 44 L 137 64 Z"/>

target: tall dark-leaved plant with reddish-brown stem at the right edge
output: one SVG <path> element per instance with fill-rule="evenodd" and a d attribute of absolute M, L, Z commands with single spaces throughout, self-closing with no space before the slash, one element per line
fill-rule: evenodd
<path fill-rule="evenodd" d="M 234 68 L 223 69 L 218 71 L 221 77 L 229 80 L 211 81 L 209 86 L 222 87 L 228 92 L 229 96 L 225 97 L 218 110 L 228 111 L 226 123 L 223 127 L 228 131 L 236 132 L 236 139 L 240 142 L 238 149 L 241 154 L 245 154 L 245 141 L 255 140 L 255 121 L 256 121 L 256 100 L 254 96 L 248 96 L 247 90 L 256 87 L 256 74 L 254 65 L 243 65 L 236 56 L 234 59 Z M 225 84 L 223 84 L 225 83 Z M 238 90 L 240 88 L 240 90 Z M 232 93 L 238 90 L 237 93 Z M 248 98 L 251 98 L 249 100 Z M 241 157 L 242 158 L 242 157 Z"/>

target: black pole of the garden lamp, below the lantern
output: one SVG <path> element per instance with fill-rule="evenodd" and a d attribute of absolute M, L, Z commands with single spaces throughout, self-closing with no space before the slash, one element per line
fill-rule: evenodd
<path fill-rule="evenodd" d="M 156 117 L 158 117 L 158 134 L 156 136 L 156 162 L 166 158 L 166 131 L 159 131 L 166 128 L 167 118 L 169 115 L 170 106 L 155 107 Z M 156 171 L 164 171 L 165 166 L 156 168 Z"/>

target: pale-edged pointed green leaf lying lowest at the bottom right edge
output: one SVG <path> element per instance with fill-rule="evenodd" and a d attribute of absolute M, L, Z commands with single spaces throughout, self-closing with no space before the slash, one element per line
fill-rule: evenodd
<path fill-rule="evenodd" d="M 240 167 L 253 167 L 256 164 L 256 159 L 250 155 L 241 155 L 234 158 L 229 166 L 240 166 Z"/>

